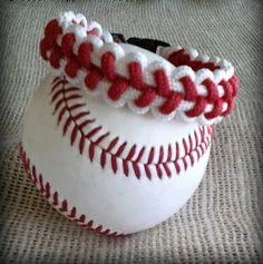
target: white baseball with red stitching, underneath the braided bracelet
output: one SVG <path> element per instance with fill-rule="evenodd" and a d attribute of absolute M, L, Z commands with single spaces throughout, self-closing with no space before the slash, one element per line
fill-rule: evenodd
<path fill-rule="evenodd" d="M 89 229 L 114 235 L 153 227 L 176 213 L 204 175 L 212 127 L 165 123 L 126 108 L 109 108 L 101 99 L 87 97 L 85 90 L 70 90 L 71 85 L 53 79 L 49 75 L 35 91 L 21 143 L 30 177 L 49 202 Z M 89 137 L 80 154 L 84 134 Z M 117 144 L 107 150 L 115 138 Z"/>

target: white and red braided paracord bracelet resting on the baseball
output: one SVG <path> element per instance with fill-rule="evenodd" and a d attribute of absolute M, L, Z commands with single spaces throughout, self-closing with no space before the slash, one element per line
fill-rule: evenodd
<path fill-rule="evenodd" d="M 225 59 L 157 40 L 126 41 L 71 11 L 46 26 L 40 53 L 55 75 L 89 95 L 166 120 L 218 123 L 232 111 L 237 92 L 234 68 Z"/>

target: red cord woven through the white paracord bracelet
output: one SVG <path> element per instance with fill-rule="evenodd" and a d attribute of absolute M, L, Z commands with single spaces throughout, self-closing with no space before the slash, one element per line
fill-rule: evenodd
<path fill-rule="evenodd" d="M 87 35 L 88 33 L 89 32 L 87 32 Z M 61 47 L 57 43 L 58 36 L 61 37 Z M 202 82 L 202 85 L 207 89 L 207 96 L 198 95 L 196 84 L 188 76 L 179 79 L 184 87 L 184 92 L 178 92 L 171 89 L 164 69 L 158 69 L 153 72 L 156 87 L 148 86 L 147 84 L 144 84 L 143 69 L 138 62 L 133 61 L 127 65 L 129 78 L 124 78 L 116 72 L 116 58 L 113 52 L 106 51 L 101 55 L 101 67 L 99 68 L 90 61 L 90 53 L 94 50 L 94 46 L 90 42 L 82 42 L 79 45 L 78 53 L 75 55 L 75 33 L 64 33 L 58 20 L 53 19 L 47 25 L 45 29 L 45 38 L 40 42 L 41 57 L 45 60 L 49 60 L 51 67 L 55 69 L 60 67 L 61 59 L 66 59 L 67 63 L 64 70 L 70 78 L 77 77 L 78 70 L 81 68 L 86 69 L 87 75 L 85 84 L 87 89 L 90 90 L 96 89 L 99 81 L 106 78 L 111 82 L 111 86 L 108 89 L 108 97 L 114 101 L 117 101 L 130 87 L 132 89 L 140 91 L 140 96 L 134 100 L 136 107 L 144 108 L 152 105 L 156 96 L 164 98 L 164 104 L 158 108 L 159 113 L 163 115 L 169 115 L 175 111 L 183 100 L 194 102 L 194 107 L 185 111 L 187 117 L 203 115 L 208 104 L 213 105 L 213 108 L 210 113 L 204 114 L 207 119 L 226 116 L 231 114 L 233 109 L 238 87 L 238 80 L 235 75 L 233 75 L 230 80 L 222 80 L 218 84 L 224 89 L 223 97 L 220 97 L 217 85 L 210 78 Z M 47 52 L 50 52 L 50 56 L 47 56 Z M 216 69 L 216 66 L 213 63 L 191 61 L 189 56 L 185 53 L 184 49 L 172 53 L 168 60 L 175 66 L 189 66 L 193 70 L 201 68 L 208 68 L 211 70 Z M 224 102 L 227 104 L 225 110 L 223 110 Z"/>

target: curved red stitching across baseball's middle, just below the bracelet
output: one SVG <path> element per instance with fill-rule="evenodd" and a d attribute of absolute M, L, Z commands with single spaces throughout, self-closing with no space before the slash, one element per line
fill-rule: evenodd
<path fill-rule="evenodd" d="M 100 147 L 99 144 L 105 143 L 110 133 L 105 133 L 103 131 L 101 126 L 95 125 L 96 119 L 91 118 L 90 111 L 82 109 L 86 104 L 75 101 L 76 99 L 82 99 L 79 88 L 72 87 L 67 84 L 67 81 L 65 82 L 56 78 L 52 81 L 50 97 L 50 104 L 55 106 L 53 114 L 57 113 L 58 115 L 58 124 L 61 124 L 62 134 L 66 135 L 69 131 L 69 127 L 72 127 L 69 131 L 70 145 L 74 146 L 76 144 L 79 153 L 85 154 L 85 144 L 88 143 L 87 157 L 90 162 L 94 162 L 95 153 L 98 148 L 100 151 L 99 165 L 101 168 L 104 168 L 105 165 L 108 164 L 111 167 L 114 174 L 116 174 L 121 167 L 124 175 L 126 176 L 129 176 L 132 173 L 130 169 L 133 169 L 134 175 L 138 179 L 142 177 L 142 173 L 144 173 L 146 177 L 150 179 L 152 170 L 149 166 L 154 165 L 155 172 L 159 178 L 163 178 L 164 175 L 171 177 L 172 173 L 168 167 L 168 163 L 173 163 L 177 174 L 179 174 L 182 170 L 178 163 L 179 159 L 183 162 L 184 169 L 187 169 L 188 166 L 194 165 L 193 151 L 197 153 L 197 158 L 199 159 L 211 144 L 210 137 L 212 137 L 213 133 L 212 126 L 207 126 L 207 134 L 211 135 L 207 138 L 205 138 L 205 127 L 199 127 L 198 134 L 201 135 L 201 139 L 198 138 L 196 130 L 194 131 L 194 136 L 188 135 L 186 138 L 183 138 L 184 156 L 181 157 L 182 149 L 179 149 L 178 141 L 176 141 L 174 145 L 176 151 L 174 160 L 172 160 L 173 149 L 172 145 L 169 144 L 167 147 L 166 158 L 164 158 L 164 146 L 160 146 L 158 149 L 152 147 L 148 156 L 146 157 L 147 163 L 143 164 L 140 159 L 145 154 L 145 146 L 138 149 L 138 146 L 134 144 L 129 149 L 126 149 L 127 143 L 121 143 L 119 137 L 115 137 L 107 144 L 106 147 Z M 68 105 L 69 102 L 70 105 Z M 74 115 L 72 109 L 78 109 L 78 113 Z M 84 128 L 88 128 L 88 131 L 84 133 Z M 78 134 L 80 137 L 79 140 L 76 141 Z M 92 139 L 95 136 L 97 139 Z M 137 157 L 135 156 L 136 151 L 138 151 Z M 124 156 L 124 153 L 127 154 Z M 120 167 L 117 162 L 118 159 L 121 162 Z M 143 165 L 143 167 L 139 165 Z"/>

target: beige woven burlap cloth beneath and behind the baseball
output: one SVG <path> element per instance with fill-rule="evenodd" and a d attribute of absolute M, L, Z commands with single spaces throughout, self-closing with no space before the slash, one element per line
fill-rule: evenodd
<path fill-rule="evenodd" d="M 260 1 L 1 1 L 0 263 L 262 263 L 263 137 Z M 168 221 L 127 238 L 86 232 L 52 209 L 18 158 L 25 109 L 47 72 L 42 27 L 74 10 L 125 36 L 158 38 L 231 60 L 234 114 L 216 127 L 206 175 Z"/>

